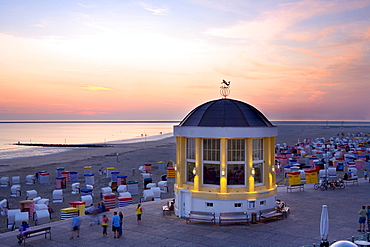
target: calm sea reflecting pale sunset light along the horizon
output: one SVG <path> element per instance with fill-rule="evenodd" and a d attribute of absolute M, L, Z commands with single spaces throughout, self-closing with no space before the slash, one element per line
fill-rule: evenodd
<path fill-rule="evenodd" d="M 370 127 L 370 121 L 271 121 L 274 125 Z M 179 121 L 31 121 L 0 120 L 0 160 L 48 155 L 76 147 L 37 147 L 16 143 L 123 144 L 156 141 L 173 136 Z"/>

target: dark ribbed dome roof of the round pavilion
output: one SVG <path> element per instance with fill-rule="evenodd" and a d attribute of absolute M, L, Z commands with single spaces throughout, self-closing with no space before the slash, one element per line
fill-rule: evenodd
<path fill-rule="evenodd" d="M 274 127 L 253 106 L 232 99 L 204 103 L 192 110 L 179 124 L 202 127 Z"/>

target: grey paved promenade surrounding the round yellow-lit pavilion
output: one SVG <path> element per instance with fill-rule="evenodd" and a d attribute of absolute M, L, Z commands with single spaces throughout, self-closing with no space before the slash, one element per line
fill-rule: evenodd
<path fill-rule="evenodd" d="M 136 223 L 136 205 L 121 209 L 124 213 L 123 238 L 114 239 L 110 227 L 108 237 L 103 237 L 102 227 L 89 226 L 89 217 L 84 216 L 79 238 L 69 239 L 71 222 L 65 220 L 48 224 L 52 227 L 52 240 L 38 236 L 27 240 L 27 246 L 307 246 L 320 242 L 323 204 L 328 205 L 329 240 L 332 242 L 360 235 L 357 212 L 361 205 L 370 204 L 369 189 L 370 183 L 363 179 L 358 186 L 327 191 L 306 185 L 304 191 L 288 193 L 286 187 L 279 187 L 277 199 L 285 201 L 291 208 L 288 218 L 248 226 L 186 224 L 184 219 L 174 215 L 163 217 L 162 205 L 167 200 L 145 202 L 140 225 Z M 113 212 L 108 213 L 110 219 L 112 215 Z M 18 246 L 16 234 L 0 234 L 0 246 Z"/>

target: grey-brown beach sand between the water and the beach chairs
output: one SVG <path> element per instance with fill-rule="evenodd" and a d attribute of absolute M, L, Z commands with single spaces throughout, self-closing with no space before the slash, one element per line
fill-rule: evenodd
<path fill-rule="evenodd" d="M 294 145 L 298 138 L 329 138 L 338 133 L 370 133 L 369 127 L 335 127 L 325 128 L 324 126 L 295 126 L 282 125 L 278 126 L 278 137 L 276 143 Z M 117 156 L 117 153 L 119 154 Z M 119 175 L 126 175 L 127 181 L 137 181 L 139 186 L 139 195 L 133 196 L 133 203 L 138 203 L 142 195 L 143 179 L 138 168 L 144 164 L 152 164 L 153 182 L 161 180 L 161 176 L 166 174 L 164 170 L 158 170 L 157 163 L 163 161 L 165 164 L 169 160 L 176 162 L 176 139 L 169 137 L 159 141 L 139 142 L 133 144 L 120 144 L 112 147 L 103 148 L 76 148 L 75 150 L 28 158 L 18 158 L 11 160 L 0 160 L 0 176 L 21 177 L 21 196 L 10 197 L 10 187 L 1 188 L 0 200 L 6 198 L 9 201 L 11 209 L 19 208 L 19 201 L 26 199 L 27 190 L 36 190 L 42 198 L 50 200 L 50 206 L 55 213 L 52 215 L 52 221 L 59 220 L 60 209 L 69 207 L 69 202 L 81 200 L 80 195 L 71 193 L 72 182 L 67 182 L 67 188 L 63 190 L 64 202 L 53 203 L 52 192 L 55 190 L 56 169 L 63 167 L 65 171 L 78 171 L 81 188 L 85 187 L 84 167 L 92 166 L 95 174 L 94 185 L 94 203 L 101 201 L 100 192 L 102 187 L 107 187 L 111 181 L 110 178 L 99 175 L 101 167 L 114 167 L 119 171 Z M 132 168 L 136 169 L 135 175 L 132 175 Z M 33 185 L 25 184 L 25 177 L 33 175 L 38 171 L 47 171 L 50 173 L 49 185 L 41 185 L 36 182 Z M 169 181 L 169 193 L 162 194 L 162 199 L 173 198 L 173 180 Z M 31 225 L 33 221 L 30 220 Z M 0 216 L 0 232 L 5 232 L 6 216 Z"/>

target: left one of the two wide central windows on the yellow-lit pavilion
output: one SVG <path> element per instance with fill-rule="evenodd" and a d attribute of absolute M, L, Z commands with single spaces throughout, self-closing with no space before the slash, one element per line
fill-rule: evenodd
<path fill-rule="evenodd" d="M 203 184 L 220 185 L 220 139 L 203 139 Z"/>

